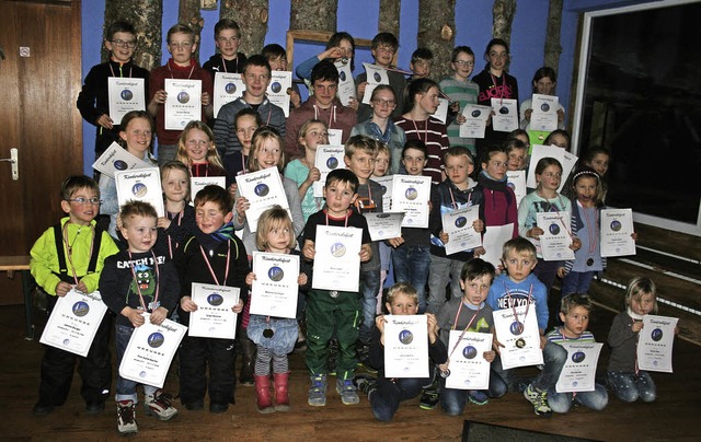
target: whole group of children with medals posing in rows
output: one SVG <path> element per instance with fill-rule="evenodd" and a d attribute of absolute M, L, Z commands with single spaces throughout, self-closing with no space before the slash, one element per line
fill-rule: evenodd
<path fill-rule="evenodd" d="M 258 410 L 286 411 L 290 408 L 288 353 L 304 336 L 296 319 L 249 313 L 251 296 L 255 296 L 250 288 L 256 280 L 250 263 L 256 251 L 298 254 L 298 318 L 303 317 L 307 325 L 304 358 L 311 382 L 308 403 L 312 406 L 325 405 L 329 376 L 334 373 L 343 404 L 357 404 L 358 389 L 367 393 L 379 420 L 392 419 L 401 400 L 422 392 L 422 408 L 440 403 L 449 415 L 460 415 L 468 402 L 483 405 L 490 397 L 501 397 L 515 387 L 514 370 L 504 370 L 501 363 L 503 345 L 495 340 L 493 350 L 483 354 L 492 364 L 487 391 L 455 389 L 446 387 L 440 376 L 450 372 L 448 336 L 450 330 L 494 333 L 492 312 L 520 305 L 528 305 L 526 314 L 530 311 L 537 317 L 544 359 L 542 371 L 524 391 L 536 414 L 566 412 L 573 402 L 593 409 L 606 406 L 608 396 L 601 385 L 595 392 L 572 395 L 555 393 L 554 384 L 567 358 L 559 344 L 594 339 L 586 330 L 591 302 L 585 293 L 593 276 L 605 268 L 597 232 L 608 153 L 589 150 L 586 166 L 574 172 L 566 189 L 574 201 L 558 193 L 566 178 L 558 160 L 531 164 L 538 187 L 517 205 L 506 172 L 527 166 L 532 139 L 532 133 L 525 130 L 530 118 L 528 104 L 521 106 L 526 107 L 526 123 L 521 121 L 521 129 L 509 137 L 492 129 L 484 140 L 459 136 L 464 105 L 518 97 L 516 79 L 506 71 L 509 55 L 505 42 L 490 42 L 487 66 L 474 82 L 469 78 L 475 57 L 467 46 L 456 47 L 451 59 L 455 73 L 440 83 L 428 78 L 430 53 L 417 50 L 411 63 L 415 75 L 406 82 L 392 67 L 397 38 L 380 33 L 372 40 L 371 54 L 379 67 L 390 69 L 390 84 L 374 88 L 370 105 L 361 105 L 368 83 L 360 75 L 358 96 L 344 106 L 336 96 L 340 77 L 333 61 L 353 65 L 355 42 L 349 34 L 337 33 L 324 53 L 298 67 L 298 74 L 310 82 L 313 95 L 301 103 L 298 92 L 290 91 L 291 112 L 286 119 L 283 109 L 265 96 L 273 66 L 287 69 L 284 49 L 268 45 L 263 55 L 246 58 L 238 53 L 241 31 L 234 22 L 222 20 L 215 27 L 219 54 L 204 69 L 192 58 L 196 49 L 192 30 L 173 26 L 168 33 L 172 58 L 151 72 L 150 79 L 148 72 L 131 63 L 134 27 L 115 23 L 107 36 L 105 47 L 111 59 L 91 70 L 78 105 L 85 119 L 101 127 L 97 153 L 118 141 L 143 162 L 160 165 L 165 217 L 158 217 L 153 207 L 143 202 L 129 201 L 119 207 L 115 181 L 106 175 L 100 177 L 99 185 L 85 176 L 67 178 L 61 208 L 68 217 L 47 230 L 32 248 L 32 274 L 51 295 L 49 313 L 56 296 L 65 296 L 73 288 L 87 293 L 99 290 L 117 317 L 119 363 L 134 329 L 145 323 L 145 313 L 152 324 L 166 318 L 186 324 L 198 309 L 192 299 L 193 282 L 238 288 L 240 300 L 232 307 L 240 314 L 235 340 L 188 335 L 183 339 L 177 357 L 180 400 L 193 411 L 204 408 L 207 394 L 211 412 L 223 412 L 234 404 L 233 367 L 240 347 L 248 349 L 240 382 L 255 385 Z M 241 72 L 245 91 L 214 116 L 212 75 L 217 71 Z M 106 100 L 106 78 L 117 75 L 149 79 L 147 111 L 128 113 L 119 125 L 110 119 Z M 552 94 L 554 77 L 551 69 L 539 70 L 533 91 Z M 202 80 L 204 123 L 191 121 L 182 131 L 164 128 L 165 78 Z M 452 101 L 447 124 L 432 117 L 441 95 Z M 559 120 L 564 121 L 564 113 L 559 113 Z M 150 156 L 154 135 L 159 140 L 158 160 Z M 551 136 L 543 144 L 570 148 L 564 130 Z M 345 146 L 346 168 L 329 173 L 323 197 L 317 197 L 313 185 L 321 174 L 314 165 L 315 151 L 332 137 Z M 265 168 L 280 174 L 289 212 L 273 207 L 252 226 L 246 218 L 250 202 L 239 193 L 234 178 Z M 432 177 L 430 201 L 426 201 L 429 223 L 426 229 L 403 228 L 395 239 L 371 241 L 363 213 L 382 211 L 384 189 L 372 178 L 388 174 Z M 226 189 L 207 186 L 191 195 L 189 178 L 197 176 L 226 176 Z M 471 206 L 479 206 L 479 219 L 472 223 L 475 232 L 513 224 L 513 239 L 503 246 L 498 269 L 479 258 L 485 253 L 483 247 L 446 254 L 450 237 L 441 216 Z M 99 212 L 111 216 L 107 232 L 95 222 Z M 573 261 L 544 261 L 539 256 L 543 231 L 537 225 L 538 212 L 561 216 L 574 239 Z M 311 287 L 319 225 L 361 231 L 358 292 Z M 383 374 L 386 318 L 378 313 L 390 269 L 397 283 L 386 295 L 387 313 L 427 315 L 432 361 L 427 379 L 387 379 Z M 551 313 L 549 291 L 556 276 L 563 278 L 563 296 Z M 656 307 L 652 281 L 632 281 L 627 306 L 627 312 L 617 316 L 608 339 L 613 348 L 609 384 L 623 400 L 639 396 L 654 400 L 652 379 L 631 365 L 642 316 Z M 105 315 L 89 354 L 80 358 L 81 393 L 88 412 L 101 412 L 112 391 L 110 316 Z M 549 327 L 552 330 L 547 333 Z M 332 342 L 337 342 L 335 367 L 330 367 Z M 35 415 L 46 415 L 64 404 L 77 359 L 47 347 Z M 370 372 L 379 370 L 377 379 L 356 375 L 359 362 Z M 138 431 L 136 387 L 136 382 L 117 376 L 117 427 L 123 434 Z M 143 389 L 148 415 L 160 420 L 177 415 L 171 395 L 154 386 L 145 385 Z"/>

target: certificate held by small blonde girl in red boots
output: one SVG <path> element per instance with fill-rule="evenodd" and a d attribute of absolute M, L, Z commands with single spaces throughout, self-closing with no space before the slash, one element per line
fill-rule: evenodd
<path fill-rule="evenodd" d="M 299 255 L 253 253 L 251 314 L 297 317 Z"/>

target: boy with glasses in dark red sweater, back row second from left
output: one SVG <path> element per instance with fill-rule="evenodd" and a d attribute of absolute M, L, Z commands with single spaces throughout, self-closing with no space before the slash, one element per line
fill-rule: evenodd
<path fill-rule="evenodd" d="M 193 54 L 197 49 L 195 33 L 186 25 L 179 23 L 168 30 L 166 38 L 168 51 L 171 53 L 172 58 L 165 65 L 153 69 L 149 81 L 148 112 L 156 119 L 160 166 L 175 159 L 177 139 L 182 132 L 182 130 L 165 129 L 165 100 L 168 98 L 165 79 L 202 81 L 203 120 L 214 116 L 211 75 L 193 59 Z"/>

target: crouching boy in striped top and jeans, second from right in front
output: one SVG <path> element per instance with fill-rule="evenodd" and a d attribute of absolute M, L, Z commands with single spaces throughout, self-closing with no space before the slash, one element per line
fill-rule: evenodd
<path fill-rule="evenodd" d="M 549 342 L 596 342 L 591 332 L 587 330 L 591 314 L 591 299 L 585 293 L 572 293 L 562 299 L 560 319 L 563 325 L 555 327 L 545 337 Z M 601 384 L 595 384 L 593 392 L 558 393 L 554 387 L 548 391 L 548 404 L 555 412 L 567 412 L 573 403 L 596 411 L 606 408 L 609 394 Z"/>

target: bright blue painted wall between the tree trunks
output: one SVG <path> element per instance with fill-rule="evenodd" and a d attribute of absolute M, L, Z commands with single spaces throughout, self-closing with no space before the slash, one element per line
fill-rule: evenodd
<path fill-rule="evenodd" d="M 574 57 L 578 14 L 583 11 L 642 3 L 643 1 L 617 0 L 564 0 L 560 57 L 558 95 L 567 108 L 572 73 L 575 69 Z M 528 0 L 517 3 L 516 16 L 512 32 L 510 73 L 519 80 L 520 98 L 530 95 L 530 80 L 533 72 L 543 63 L 545 42 L 545 20 L 548 0 Z M 163 59 L 168 60 L 165 32 L 177 22 L 177 0 L 163 0 Z M 271 1 L 268 31 L 265 43 L 278 43 L 285 46 L 286 32 L 289 24 L 290 2 Z M 84 0 L 82 2 L 82 71 L 83 78 L 100 60 L 102 45 L 102 22 L 104 18 L 104 0 Z M 338 0 L 338 31 L 347 31 L 359 38 L 372 38 L 377 33 L 379 8 L 377 0 Z M 200 60 L 206 60 L 215 53 L 214 25 L 219 20 L 219 11 L 202 11 L 205 19 L 203 44 L 199 50 Z M 484 68 L 482 55 L 492 35 L 492 2 L 485 0 L 457 0 L 456 2 L 456 45 L 472 47 L 476 55 L 475 70 Z M 399 66 L 409 68 L 412 51 L 416 48 L 418 31 L 418 0 L 402 0 L 400 16 L 400 51 Z M 295 62 L 320 53 L 323 45 L 300 45 L 295 48 Z M 363 71 L 363 61 L 371 61 L 368 50 L 356 54 L 356 74 Z M 83 164 L 87 174 L 92 175 L 94 162 L 95 127 L 83 124 Z"/>

